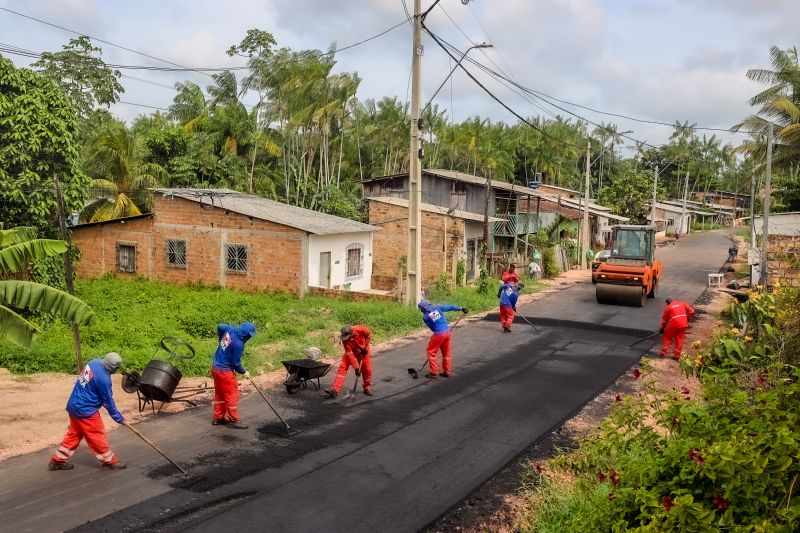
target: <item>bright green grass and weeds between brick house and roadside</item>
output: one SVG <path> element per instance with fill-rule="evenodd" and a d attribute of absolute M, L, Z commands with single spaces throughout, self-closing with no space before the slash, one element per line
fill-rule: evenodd
<path fill-rule="evenodd" d="M 535 289 L 526 289 L 531 290 Z M 116 351 L 124 359 L 123 368 L 141 370 L 154 355 L 164 358 L 166 354 L 157 350 L 158 342 L 162 336 L 174 335 L 197 352 L 193 360 L 175 363 L 185 375 L 208 373 L 219 322 L 250 320 L 256 324 L 258 334 L 247 343 L 244 359 L 251 371 L 279 368 L 281 360 L 302 358 L 301 350 L 308 346 L 319 346 L 326 356 L 339 357 L 341 347 L 333 344 L 332 333 L 343 324 L 366 324 L 377 341 L 424 327 L 415 307 L 389 301 L 298 299 L 283 293 L 248 294 L 112 276 L 81 281 L 77 292 L 95 311 L 92 325 L 81 328 L 85 359 Z M 479 294 L 470 287 L 436 297 L 437 303 L 462 305 L 470 312 L 497 305 L 494 294 Z M 15 373 L 72 372 L 74 361 L 71 328 L 61 322 L 47 328 L 29 351 L 0 341 L 0 367 Z"/>

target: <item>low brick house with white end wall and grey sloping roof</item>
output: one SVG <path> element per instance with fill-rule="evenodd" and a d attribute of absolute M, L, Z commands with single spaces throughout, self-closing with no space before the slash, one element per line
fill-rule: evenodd
<path fill-rule="evenodd" d="M 78 273 L 305 294 L 371 288 L 379 228 L 229 189 L 158 189 L 152 213 L 78 224 Z"/>

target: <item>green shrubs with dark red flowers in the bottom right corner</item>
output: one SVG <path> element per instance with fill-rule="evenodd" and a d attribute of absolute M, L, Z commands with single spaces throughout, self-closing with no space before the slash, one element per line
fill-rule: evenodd
<path fill-rule="evenodd" d="M 542 503 L 521 528 L 797 531 L 798 303 L 787 291 L 734 304 L 709 347 L 682 360 L 703 380 L 699 397 L 657 390 L 645 367 L 644 395 L 622 398 L 576 452 L 527 474 Z"/>

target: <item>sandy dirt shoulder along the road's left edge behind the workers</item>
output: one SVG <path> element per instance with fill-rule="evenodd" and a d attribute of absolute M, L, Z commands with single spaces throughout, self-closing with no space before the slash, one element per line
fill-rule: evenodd
<path fill-rule="evenodd" d="M 545 280 L 546 288 L 544 290 L 534 294 L 522 294 L 519 304 L 545 298 L 549 294 L 586 280 L 588 280 L 588 273 L 585 271 L 571 271 L 553 280 Z M 469 315 L 462 320 L 462 324 L 481 320 L 492 312 L 495 310 Z M 426 338 L 429 334 L 427 329 L 420 329 L 409 335 L 380 343 L 374 347 L 374 352 L 397 348 Z M 298 357 L 302 356 L 298 355 Z M 333 364 L 337 362 L 332 359 L 323 359 L 323 361 Z M 279 369 L 261 374 L 254 379 L 262 388 L 282 386 L 286 379 L 286 372 Z M 122 389 L 121 381 L 120 375 L 112 378 L 114 401 L 126 420 L 138 423 L 153 416 L 150 406 L 147 406 L 143 412 L 139 412 L 137 395 L 126 393 Z M 3 402 L 0 404 L 0 461 L 58 444 L 69 424 L 65 407 L 74 385 L 75 376 L 72 374 L 14 375 L 6 369 L 0 368 L 0 391 L 3 391 L 4 394 Z M 191 400 L 198 405 L 207 405 L 213 400 L 214 382 L 210 377 L 183 378 L 180 386 L 205 388 L 205 391 L 191 397 Z M 244 381 L 240 381 L 240 389 L 243 394 L 255 392 L 252 386 Z M 175 394 L 175 396 L 177 395 Z M 189 404 L 183 402 L 168 403 L 163 405 L 161 411 L 176 412 L 190 407 Z M 108 430 L 118 427 L 105 410 L 101 409 L 100 412 Z"/>

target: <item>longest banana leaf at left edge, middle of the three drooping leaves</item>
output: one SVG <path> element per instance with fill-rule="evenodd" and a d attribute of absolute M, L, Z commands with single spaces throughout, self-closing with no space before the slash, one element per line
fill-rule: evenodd
<path fill-rule="evenodd" d="M 84 302 L 64 291 L 31 281 L 0 281 L 0 305 L 52 313 L 66 322 L 87 326 L 94 311 Z"/>

